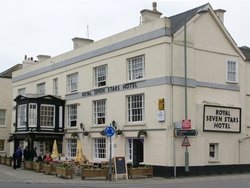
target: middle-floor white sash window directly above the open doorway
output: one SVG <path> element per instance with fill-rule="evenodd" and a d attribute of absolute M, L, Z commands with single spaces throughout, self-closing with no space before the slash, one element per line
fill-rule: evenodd
<path fill-rule="evenodd" d="M 141 99 L 140 101 L 138 101 Z M 136 103 L 140 103 L 139 106 Z M 127 121 L 128 123 L 142 123 L 144 121 L 145 97 L 144 94 L 127 96 Z M 141 113 L 138 113 L 141 112 Z"/>

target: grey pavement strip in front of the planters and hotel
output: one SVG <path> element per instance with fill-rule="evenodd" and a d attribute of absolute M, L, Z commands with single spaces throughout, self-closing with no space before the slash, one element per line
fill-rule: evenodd
<path fill-rule="evenodd" d="M 195 176 L 181 178 L 161 178 L 161 177 L 135 177 L 133 179 L 118 178 L 117 181 L 108 181 L 104 178 L 88 178 L 82 180 L 80 176 L 74 176 L 73 179 L 65 179 L 56 177 L 55 175 L 46 175 L 30 170 L 15 170 L 10 166 L 0 164 L 0 183 L 29 183 L 29 184 L 171 184 L 171 183 L 187 183 L 187 182 L 213 182 L 224 181 L 228 179 L 249 180 L 250 174 L 228 174 L 214 176 Z"/>

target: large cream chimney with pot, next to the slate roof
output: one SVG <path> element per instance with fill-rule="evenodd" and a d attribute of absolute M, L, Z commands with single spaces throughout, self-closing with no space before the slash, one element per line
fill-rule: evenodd
<path fill-rule="evenodd" d="M 153 2 L 153 10 L 144 9 L 141 11 L 142 24 L 155 21 L 162 15 L 161 12 L 157 11 L 157 3 Z"/>

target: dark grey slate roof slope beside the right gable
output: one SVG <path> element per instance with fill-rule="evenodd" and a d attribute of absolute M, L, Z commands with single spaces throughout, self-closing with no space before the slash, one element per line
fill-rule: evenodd
<path fill-rule="evenodd" d="M 169 17 L 169 19 L 171 21 L 172 34 L 174 34 L 176 31 L 178 31 L 185 24 L 185 21 L 188 22 L 190 19 L 192 19 L 199 12 L 206 11 L 208 6 L 209 6 L 209 3 L 206 3 L 204 5 L 193 8 L 193 9 L 188 10 L 186 12 Z"/>

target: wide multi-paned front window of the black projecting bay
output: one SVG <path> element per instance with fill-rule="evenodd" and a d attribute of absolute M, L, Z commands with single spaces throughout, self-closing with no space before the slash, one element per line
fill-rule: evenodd
<path fill-rule="evenodd" d="M 55 125 L 55 106 L 42 104 L 40 108 L 40 126 L 52 128 Z"/>

